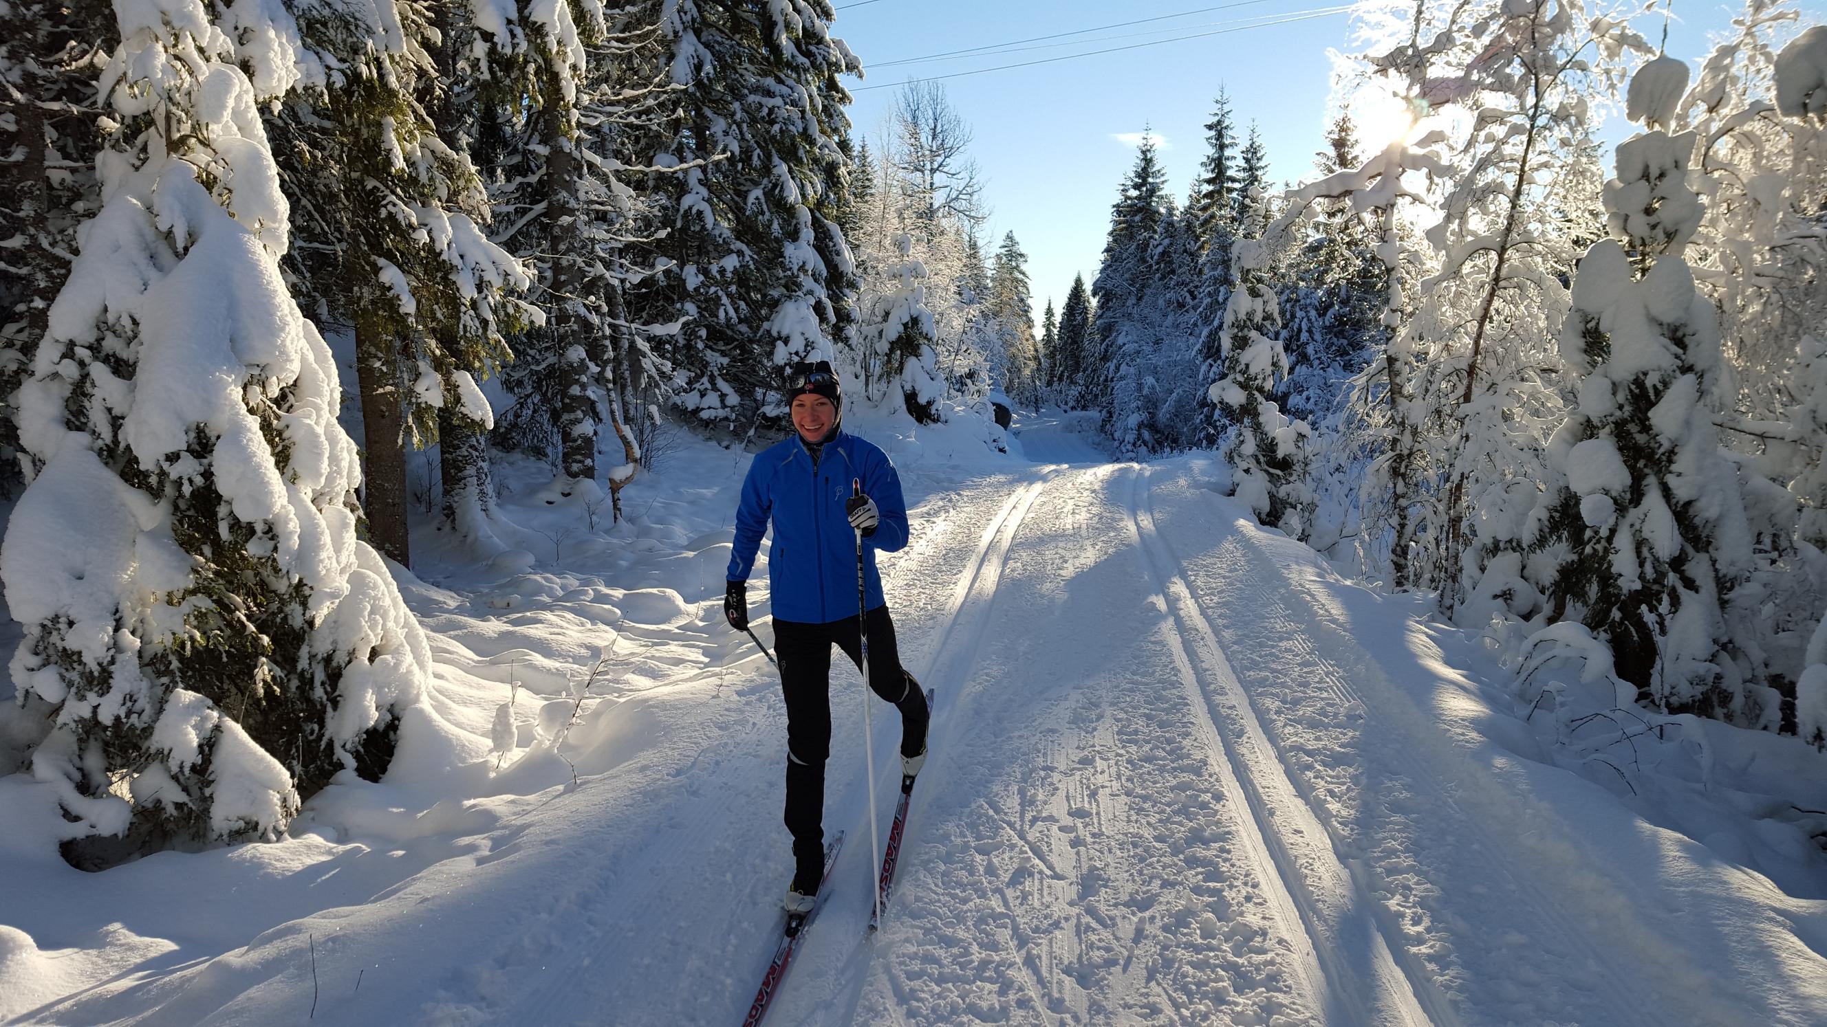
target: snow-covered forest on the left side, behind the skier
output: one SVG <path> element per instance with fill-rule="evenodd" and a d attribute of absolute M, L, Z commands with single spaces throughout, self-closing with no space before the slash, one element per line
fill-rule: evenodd
<path fill-rule="evenodd" d="M 787 362 L 919 422 L 1032 364 L 968 128 L 908 88 L 853 137 L 831 18 L 0 5 L 4 727 L 95 835 L 66 857 L 272 837 L 385 769 L 429 676 L 382 559 L 411 453 L 488 556 L 497 453 L 619 517 L 667 418 L 778 429 Z"/>

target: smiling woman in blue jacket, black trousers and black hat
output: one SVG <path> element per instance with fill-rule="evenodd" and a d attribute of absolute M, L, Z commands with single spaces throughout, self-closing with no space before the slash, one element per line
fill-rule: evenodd
<path fill-rule="evenodd" d="M 756 453 L 742 482 L 729 556 L 723 616 L 749 630 L 747 579 L 769 519 L 775 651 L 787 704 L 786 824 L 793 835 L 787 914 L 813 908 L 824 872 L 824 762 L 831 751 L 831 643 L 862 662 L 868 630 L 870 689 L 901 709 L 901 773 L 926 760 L 926 696 L 901 667 L 895 625 L 875 572 L 875 552 L 908 545 L 901 477 L 877 446 L 840 431 L 844 397 L 824 360 L 795 364 L 786 395 L 793 435 Z M 862 534 L 864 609 L 857 623 L 857 550 Z"/>

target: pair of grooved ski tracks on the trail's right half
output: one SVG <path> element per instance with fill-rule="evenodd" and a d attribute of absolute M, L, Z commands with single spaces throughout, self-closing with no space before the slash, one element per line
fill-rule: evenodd
<path fill-rule="evenodd" d="M 1142 561 L 1178 629 L 1175 662 L 1182 683 L 1208 742 L 1228 760 L 1219 768 L 1222 786 L 1250 806 L 1253 822 L 1241 824 L 1239 839 L 1261 864 L 1264 894 L 1281 906 L 1286 936 L 1304 937 L 1314 948 L 1325 972 L 1314 994 L 1328 1022 L 1456 1027 L 1458 1016 L 1425 967 L 1389 943 L 1368 883 L 1328 844 L 1330 835 L 1288 777 L 1178 559 L 1155 532 L 1144 466 L 1133 470 L 1129 515 Z"/>

